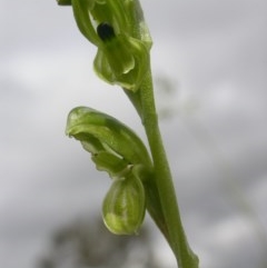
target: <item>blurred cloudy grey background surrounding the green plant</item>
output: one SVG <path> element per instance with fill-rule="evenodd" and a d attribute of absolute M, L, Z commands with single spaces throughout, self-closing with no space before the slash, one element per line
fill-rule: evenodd
<path fill-rule="evenodd" d="M 267 2 L 141 3 L 160 127 L 200 267 L 266 268 Z M 123 92 L 93 73 L 96 48 L 71 8 L 0 0 L 0 267 L 175 268 L 149 216 L 138 237 L 102 228 L 109 178 L 65 136 L 68 112 L 89 106 L 145 137 Z"/>

